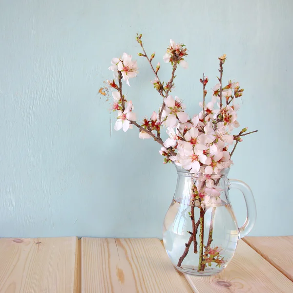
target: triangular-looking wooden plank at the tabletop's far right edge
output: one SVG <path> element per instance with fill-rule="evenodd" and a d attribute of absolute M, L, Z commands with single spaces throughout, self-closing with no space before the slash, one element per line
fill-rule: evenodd
<path fill-rule="evenodd" d="M 245 237 L 243 240 L 293 282 L 293 236 Z"/>

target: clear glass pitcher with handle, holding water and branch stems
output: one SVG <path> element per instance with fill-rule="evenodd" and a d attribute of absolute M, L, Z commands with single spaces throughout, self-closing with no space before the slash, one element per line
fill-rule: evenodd
<path fill-rule="evenodd" d="M 218 174 L 191 174 L 177 167 L 177 186 L 163 224 L 163 242 L 178 271 L 210 276 L 221 272 L 232 259 L 239 238 L 256 220 L 256 207 L 247 184 L 228 179 L 229 168 Z M 238 228 L 230 205 L 229 189 L 242 191 L 247 219 Z"/>

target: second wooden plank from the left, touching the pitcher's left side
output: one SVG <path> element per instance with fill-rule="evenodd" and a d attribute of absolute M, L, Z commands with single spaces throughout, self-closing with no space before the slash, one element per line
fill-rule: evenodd
<path fill-rule="evenodd" d="M 82 238 L 82 293 L 191 293 L 158 239 Z"/>

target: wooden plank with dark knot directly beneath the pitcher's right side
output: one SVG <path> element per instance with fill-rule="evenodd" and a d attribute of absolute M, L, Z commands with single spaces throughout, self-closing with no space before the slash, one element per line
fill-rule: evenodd
<path fill-rule="evenodd" d="M 186 277 L 197 293 L 293 292 L 293 283 L 242 240 L 230 264 L 220 274 Z"/>

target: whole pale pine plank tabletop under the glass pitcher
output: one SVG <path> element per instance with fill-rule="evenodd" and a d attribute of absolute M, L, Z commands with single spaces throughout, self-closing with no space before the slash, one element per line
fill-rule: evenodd
<path fill-rule="evenodd" d="M 0 239 L 0 293 L 293 293 L 293 236 L 246 237 L 218 275 L 177 272 L 158 239 Z"/>

